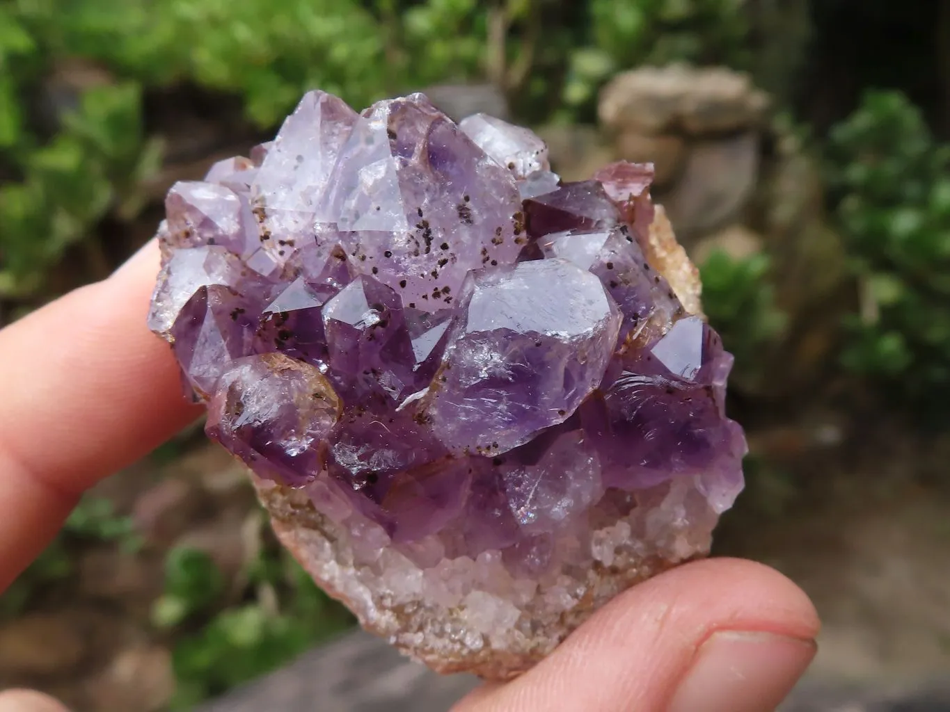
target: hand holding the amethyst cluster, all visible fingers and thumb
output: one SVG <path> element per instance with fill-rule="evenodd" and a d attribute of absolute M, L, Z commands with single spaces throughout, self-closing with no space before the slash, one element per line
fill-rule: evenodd
<path fill-rule="evenodd" d="M 0 330 L 0 590 L 82 493 L 199 415 L 168 346 L 145 328 L 156 244 Z M 811 662 L 806 594 L 760 564 L 709 559 L 620 594 L 522 677 L 454 712 L 771 712 Z M 36 692 L 0 712 L 64 712 Z"/>

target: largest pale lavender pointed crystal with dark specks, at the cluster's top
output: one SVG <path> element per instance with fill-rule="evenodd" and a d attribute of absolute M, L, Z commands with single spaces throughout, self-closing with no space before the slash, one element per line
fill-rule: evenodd
<path fill-rule="evenodd" d="M 323 216 L 412 309 L 449 307 L 467 272 L 525 242 L 514 177 L 421 94 L 364 111 L 331 183 Z"/>

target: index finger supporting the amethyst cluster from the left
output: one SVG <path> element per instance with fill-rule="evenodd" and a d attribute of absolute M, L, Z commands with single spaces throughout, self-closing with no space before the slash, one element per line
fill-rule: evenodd
<path fill-rule="evenodd" d="M 145 327 L 155 242 L 118 272 L 0 330 L 0 590 L 80 495 L 194 420 Z"/>

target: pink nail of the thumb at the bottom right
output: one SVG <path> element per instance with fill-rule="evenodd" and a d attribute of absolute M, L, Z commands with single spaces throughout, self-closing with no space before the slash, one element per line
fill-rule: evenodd
<path fill-rule="evenodd" d="M 696 652 L 670 712 L 773 712 L 816 649 L 814 641 L 772 633 L 713 633 Z"/>

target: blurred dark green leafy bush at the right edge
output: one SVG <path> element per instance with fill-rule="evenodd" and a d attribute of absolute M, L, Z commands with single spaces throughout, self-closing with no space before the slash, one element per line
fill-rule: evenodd
<path fill-rule="evenodd" d="M 829 199 L 861 291 L 843 363 L 914 403 L 942 405 L 950 396 L 950 145 L 934 140 L 901 93 L 872 91 L 833 129 L 826 156 Z"/>

